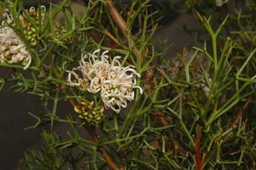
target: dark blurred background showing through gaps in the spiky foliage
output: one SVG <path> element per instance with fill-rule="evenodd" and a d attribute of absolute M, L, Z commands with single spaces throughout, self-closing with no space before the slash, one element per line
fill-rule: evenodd
<path fill-rule="evenodd" d="M 158 1 L 158 0 L 157 0 Z M 166 0 L 165 0 L 166 1 Z M 42 0 L 46 7 L 49 1 Z M 58 3 L 57 0 L 51 1 Z M 125 3 L 125 1 L 123 1 Z M 159 1 L 158 1 L 159 2 Z M 37 1 L 25 1 L 25 7 L 37 6 Z M 72 4 L 76 11 L 83 11 L 82 1 L 74 1 Z M 181 53 L 184 46 L 190 47 L 194 39 L 188 33 L 184 32 L 182 27 L 186 24 L 188 27 L 196 27 L 196 21 L 192 15 L 187 13 L 178 14 L 165 7 L 164 18 L 160 22 L 162 27 L 155 34 L 155 39 L 166 39 L 167 45 L 172 44 L 172 48 L 168 49 L 166 56 L 174 57 L 177 53 Z M 12 74 L 11 69 L 1 68 L 0 77 Z M 35 147 L 42 143 L 40 131 L 42 129 L 32 129 L 25 131 L 27 126 L 31 126 L 36 120 L 29 116 L 27 112 L 37 112 L 40 106 L 34 98 L 27 96 L 26 93 L 14 93 L 9 91 L 9 87 L 5 86 L 0 91 L 0 169 L 9 170 L 17 169 L 19 160 L 23 157 L 26 149 Z M 71 112 L 69 105 L 62 104 L 58 106 L 59 112 Z M 55 131 L 64 133 L 62 124 L 56 124 Z"/>

